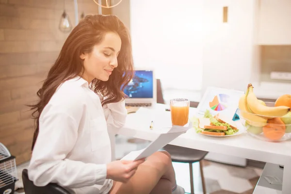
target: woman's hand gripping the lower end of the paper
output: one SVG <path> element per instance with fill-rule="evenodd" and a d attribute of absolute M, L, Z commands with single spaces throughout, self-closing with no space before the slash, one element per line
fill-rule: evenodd
<path fill-rule="evenodd" d="M 138 161 L 113 161 L 107 164 L 107 177 L 115 181 L 126 183 L 135 174 L 137 167 L 145 162 Z"/>

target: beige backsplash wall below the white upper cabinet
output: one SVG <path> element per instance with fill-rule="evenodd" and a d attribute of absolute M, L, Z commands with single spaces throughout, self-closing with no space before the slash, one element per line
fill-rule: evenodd
<path fill-rule="evenodd" d="M 286 82 L 272 80 L 272 71 L 291 72 L 291 45 L 261 46 L 261 81 Z"/>

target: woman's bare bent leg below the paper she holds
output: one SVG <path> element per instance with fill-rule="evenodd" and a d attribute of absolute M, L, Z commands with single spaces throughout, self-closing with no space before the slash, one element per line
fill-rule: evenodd
<path fill-rule="evenodd" d="M 175 172 L 171 156 L 165 151 L 149 156 L 127 183 L 114 182 L 110 194 L 149 194 L 156 186 L 155 189 L 160 189 L 158 182 L 161 178 L 170 182 L 169 191 L 172 192 L 172 187 L 176 186 Z M 162 180 L 159 184 L 165 185 L 165 181 Z"/>

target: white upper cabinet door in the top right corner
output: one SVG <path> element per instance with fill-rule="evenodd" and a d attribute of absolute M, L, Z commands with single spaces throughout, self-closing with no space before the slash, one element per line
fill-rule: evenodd
<path fill-rule="evenodd" d="M 259 45 L 291 45 L 291 0 L 260 0 Z"/>

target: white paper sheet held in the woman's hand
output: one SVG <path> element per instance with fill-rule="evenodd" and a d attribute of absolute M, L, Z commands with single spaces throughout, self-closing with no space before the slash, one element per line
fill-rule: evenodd
<path fill-rule="evenodd" d="M 188 129 L 192 128 L 192 123 L 190 122 L 187 127 L 182 126 L 173 126 L 167 133 L 162 133 L 155 141 L 153 141 L 146 148 L 132 151 L 121 160 L 135 161 L 142 158 L 146 158 L 163 146 L 166 146 L 168 143 L 176 139 L 182 133 L 185 133 Z"/>

